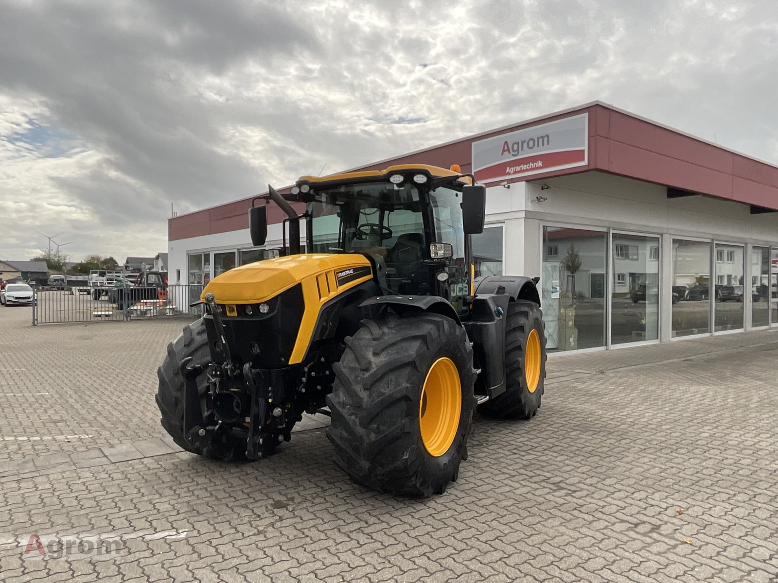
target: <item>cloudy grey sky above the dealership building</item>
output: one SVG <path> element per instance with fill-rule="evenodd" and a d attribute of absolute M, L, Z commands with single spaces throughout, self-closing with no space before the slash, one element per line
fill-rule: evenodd
<path fill-rule="evenodd" d="M 594 99 L 778 163 L 776 0 L 0 0 L 0 258 Z"/>

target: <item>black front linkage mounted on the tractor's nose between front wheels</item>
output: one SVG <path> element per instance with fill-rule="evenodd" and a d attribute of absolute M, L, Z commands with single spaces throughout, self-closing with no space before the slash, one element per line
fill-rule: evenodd
<path fill-rule="evenodd" d="M 206 295 L 205 304 L 226 358 L 223 364 L 193 365 L 191 357 L 181 362 L 180 373 L 185 382 L 184 438 L 203 451 L 232 448 L 245 442 L 247 459 L 269 456 L 279 443 L 292 438 L 294 423 L 289 421 L 301 418 L 283 398 L 284 391 L 279 390 L 284 386 L 284 377 L 293 371 L 261 370 L 251 368 L 248 362 L 243 367 L 237 365 L 230 354 L 216 298 Z M 205 393 L 198 387 L 202 374 L 208 379 Z"/>

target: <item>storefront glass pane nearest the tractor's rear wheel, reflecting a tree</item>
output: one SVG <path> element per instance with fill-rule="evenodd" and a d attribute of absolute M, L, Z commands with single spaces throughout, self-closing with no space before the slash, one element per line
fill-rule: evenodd
<path fill-rule="evenodd" d="M 543 228 L 541 302 L 548 350 L 605 346 L 608 234 Z"/>

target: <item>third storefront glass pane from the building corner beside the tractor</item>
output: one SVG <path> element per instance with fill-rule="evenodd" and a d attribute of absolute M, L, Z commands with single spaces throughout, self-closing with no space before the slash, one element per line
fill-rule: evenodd
<path fill-rule="evenodd" d="M 673 239 L 673 336 L 710 332 L 711 243 Z"/>

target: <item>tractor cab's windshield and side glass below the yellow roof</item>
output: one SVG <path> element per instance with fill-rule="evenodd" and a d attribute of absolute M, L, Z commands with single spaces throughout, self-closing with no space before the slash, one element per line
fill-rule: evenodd
<path fill-rule="evenodd" d="M 308 204 L 314 252 L 370 254 L 386 263 L 392 292 L 428 293 L 435 273 L 427 272 L 441 270 L 440 265 L 425 264 L 430 243 L 453 247 L 447 271 L 457 271 L 452 281 L 462 281 L 461 201 L 461 192 L 454 188 L 429 190 L 412 183 L 357 183 L 317 190 Z"/>

